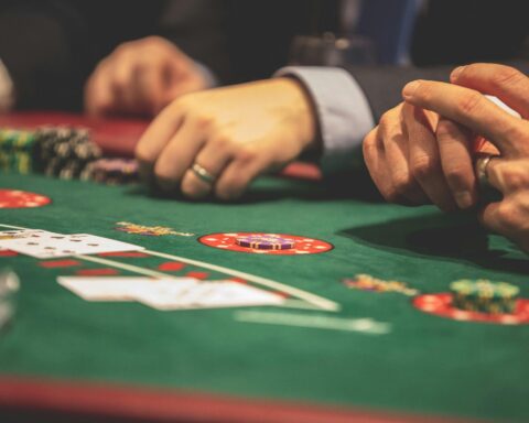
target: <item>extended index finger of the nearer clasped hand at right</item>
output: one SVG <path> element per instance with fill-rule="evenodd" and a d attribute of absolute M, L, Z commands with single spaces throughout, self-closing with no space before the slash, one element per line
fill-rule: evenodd
<path fill-rule="evenodd" d="M 482 94 L 456 85 L 415 80 L 403 90 L 404 100 L 462 123 L 492 141 L 503 155 L 522 153 L 527 128 Z"/>

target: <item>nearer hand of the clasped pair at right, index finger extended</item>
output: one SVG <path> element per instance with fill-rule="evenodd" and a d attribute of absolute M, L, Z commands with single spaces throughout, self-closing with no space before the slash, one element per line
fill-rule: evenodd
<path fill-rule="evenodd" d="M 482 177 L 503 195 L 481 210 L 481 219 L 529 252 L 529 78 L 508 66 L 474 64 L 456 68 L 451 83 L 415 80 L 402 95 L 407 104 L 468 128 L 499 150 L 499 156 L 478 163 Z M 484 95 L 499 98 L 522 119 Z"/>

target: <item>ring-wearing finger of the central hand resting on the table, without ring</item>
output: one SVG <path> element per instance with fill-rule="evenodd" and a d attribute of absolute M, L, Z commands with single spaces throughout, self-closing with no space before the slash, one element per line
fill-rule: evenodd
<path fill-rule="evenodd" d="M 206 142 L 204 148 L 196 155 L 195 163 L 204 167 L 213 176 L 217 177 L 223 173 L 228 162 L 234 156 L 233 148 L 226 140 L 217 139 Z M 212 184 L 203 181 L 192 170 L 185 172 L 182 180 L 182 193 L 191 198 L 205 197 L 212 191 Z"/>

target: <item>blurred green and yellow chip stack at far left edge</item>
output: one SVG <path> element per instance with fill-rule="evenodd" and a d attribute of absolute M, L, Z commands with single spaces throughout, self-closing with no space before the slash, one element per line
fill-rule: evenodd
<path fill-rule="evenodd" d="M 0 170 L 28 174 L 37 160 L 37 139 L 31 131 L 0 129 Z"/>

